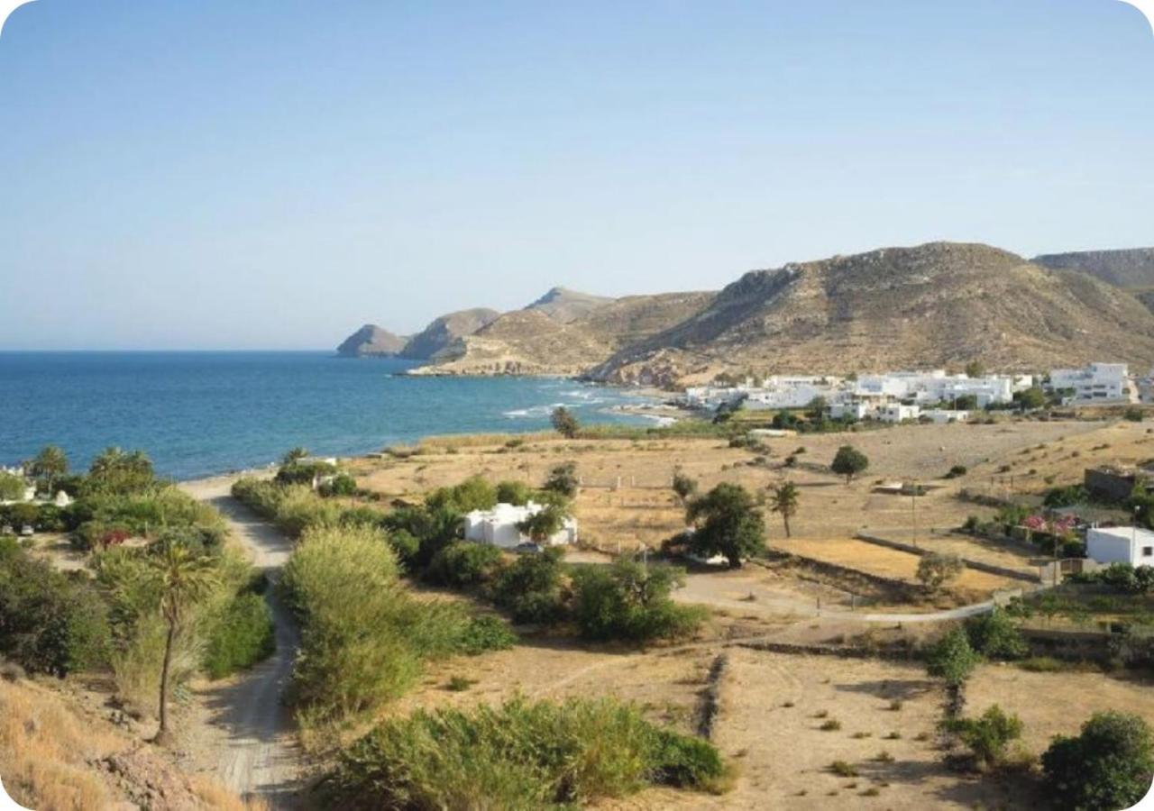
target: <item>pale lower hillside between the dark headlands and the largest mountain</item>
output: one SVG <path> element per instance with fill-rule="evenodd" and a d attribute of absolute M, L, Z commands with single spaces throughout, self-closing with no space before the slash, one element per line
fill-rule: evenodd
<path fill-rule="evenodd" d="M 419 373 L 580 375 L 620 348 L 684 321 L 712 296 L 713 293 L 666 293 L 605 299 L 583 316 L 574 313 L 586 307 L 587 300 L 576 308 L 554 309 L 552 316 L 542 307 L 530 306 L 505 313 L 475 333 L 463 336 L 434 359 L 435 366 Z M 565 299 L 562 305 L 575 302 Z"/>

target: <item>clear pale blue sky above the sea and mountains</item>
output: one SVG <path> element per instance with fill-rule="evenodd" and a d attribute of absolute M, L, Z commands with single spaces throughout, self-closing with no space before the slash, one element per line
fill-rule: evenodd
<path fill-rule="evenodd" d="M 0 348 L 1151 246 L 1152 133 L 1117 0 L 37 0 L 0 36 Z"/>

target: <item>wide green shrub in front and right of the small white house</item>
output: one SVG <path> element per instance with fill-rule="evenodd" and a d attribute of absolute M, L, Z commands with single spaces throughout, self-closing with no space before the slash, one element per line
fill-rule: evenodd
<path fill-rule="evenodd" d="M 582 569 L 574 579 L 574 618 L 589 639 L 683 637 L 697 629 L 704 611 L 669 599 L 682 583 L 679 570 L 625 558 L 612 566 Z"/>

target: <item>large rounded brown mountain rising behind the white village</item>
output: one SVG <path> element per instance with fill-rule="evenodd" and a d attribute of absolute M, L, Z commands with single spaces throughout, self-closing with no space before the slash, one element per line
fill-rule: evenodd
<path fill-rule="evenodd" d="M 1154 316 L 1087 273 L 984 245 L 935 242 L 751 271 L 590 374 L 672 384 L 725 369 L 849 373 L 975 359 L 1005 370 L 1148 366 Z"/>

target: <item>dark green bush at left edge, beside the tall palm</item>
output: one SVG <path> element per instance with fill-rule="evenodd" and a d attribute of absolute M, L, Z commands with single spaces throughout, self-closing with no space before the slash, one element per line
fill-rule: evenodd
<path fill-rule="evenodd" d="M 66 676 L 105 664 L 110 641 L 106 605 L 87 577 L 0 539 L 0 653 L 31 673 Z"/>

